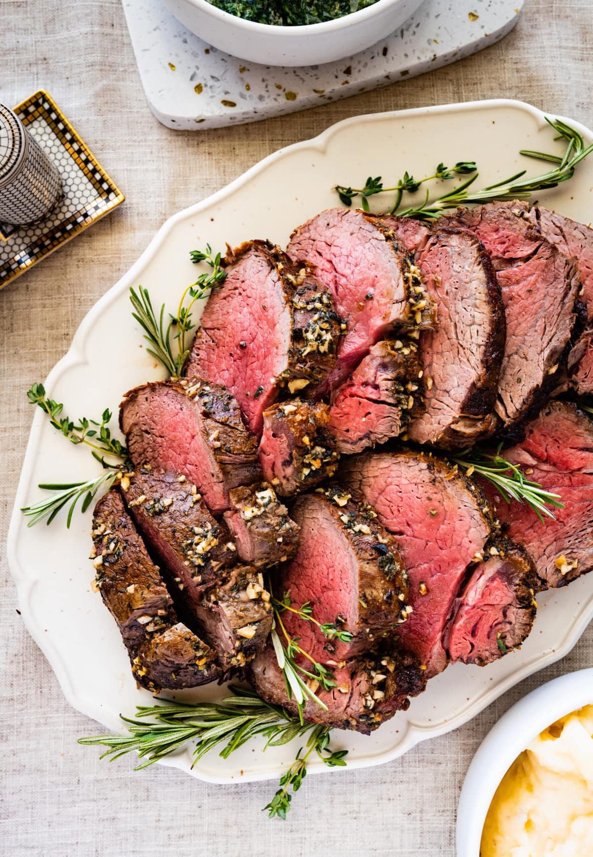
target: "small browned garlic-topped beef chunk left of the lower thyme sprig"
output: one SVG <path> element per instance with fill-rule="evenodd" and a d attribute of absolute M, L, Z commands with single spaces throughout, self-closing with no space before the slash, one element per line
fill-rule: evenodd
<path fill-rule="evenodd" d="M 208 590 L 195 614 L 225 670 L 243 668 L 266 644 L 272 604 L 261 573 L 236 566 L 224 583 Z"/>

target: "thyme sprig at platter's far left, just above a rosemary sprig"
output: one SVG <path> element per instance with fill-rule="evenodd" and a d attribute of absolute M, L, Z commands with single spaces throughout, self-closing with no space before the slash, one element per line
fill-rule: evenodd
<path fill-rule="evenodd" d="M 63 416 L 63 404 L 61 402 L 46 398 L 43 384 L 33 384 L 33 387 L 27 390 L 27 399 L 31 405 L 39 405 L 41 410 L 50 417 L 51 425 L 57 428 L 57 431 L 62 432 L 70 443 L 84 443 L 86 446 L 90 446 L 94 458 L 97 458 L 104 467 L 120 466 L 120 464 L 107 464 L 105 455 L 121 458 L 123 461 L 128 459 L 128 450 L 123 446 L 123 443 L 117 438 L 111 437 L 108 423 L 111 422 L 112 415 L 108 408 L 105 408 L 101 414 L 100 422 L 81 417 L 78 423 L 75 423 L 69 417 Z"/>

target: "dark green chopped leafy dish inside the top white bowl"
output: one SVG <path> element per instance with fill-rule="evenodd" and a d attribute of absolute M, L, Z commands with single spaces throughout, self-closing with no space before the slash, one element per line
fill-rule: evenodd
<path fill-rule="evenodd" d="M 372 6 L 377 0 L 209 0 L 213 6 L 231 15 L 256 21 L 258 24 L 279 24 L 298 27 L 302 24 L 320 24 L 333 21 Z"/>

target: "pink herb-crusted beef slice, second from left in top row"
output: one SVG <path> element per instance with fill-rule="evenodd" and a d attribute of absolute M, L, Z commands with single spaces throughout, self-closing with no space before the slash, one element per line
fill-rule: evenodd
<path fill-rule="evenodd" d="M 374 215 L 330 208 L 292 233 L 288 254 L 316 266 L 347 325 L 320 392 L 338 387 L 393 328 L 434 326 L 434 305 L 413 260 Z"/>

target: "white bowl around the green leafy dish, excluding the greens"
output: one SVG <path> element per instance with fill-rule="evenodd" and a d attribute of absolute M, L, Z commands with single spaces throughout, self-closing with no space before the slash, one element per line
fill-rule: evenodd
<path fill-rule="evenodd" d="M 372 6 L 320 24 L 277 27 L 244 21 L 207 0 L 164 0 L 196 36 L 251 63 L 320 65 L 350 57 L 392 33 L 422 0 L 377 0 Z"/>

